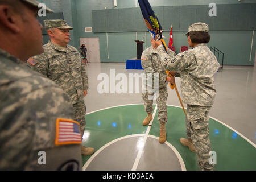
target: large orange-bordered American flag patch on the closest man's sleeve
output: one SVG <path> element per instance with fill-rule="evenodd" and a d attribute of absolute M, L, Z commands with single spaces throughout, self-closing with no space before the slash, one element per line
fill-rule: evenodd
<path fill-rule="evenodd" d="M 71 119 L 57 118 L 55 145 L 77 143 L 82 143 L 79 123 Z"/>

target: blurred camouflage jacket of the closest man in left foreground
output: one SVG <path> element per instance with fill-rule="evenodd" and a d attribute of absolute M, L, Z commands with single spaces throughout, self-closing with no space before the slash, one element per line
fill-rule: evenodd
<path fill-rule="evenodd" d="M 58 85 L 0 49 L 0 170 L 81 169 L 80 144 L 55 143 L 57 118 L 72 117 Z"/>

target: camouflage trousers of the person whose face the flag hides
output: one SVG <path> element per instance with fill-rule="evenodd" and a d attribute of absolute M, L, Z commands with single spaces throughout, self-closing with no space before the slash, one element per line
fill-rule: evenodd
<path fill-rule="evenodd" d="M 144 101 L 144 109 L 147 113 L 152 113 L 153 111 L 153 100 L 148 98 L 149 96 L 154 96 L 155 93 L 142 93 L 142 98 Z M 167 101 L 168 93 L 167 93 L 167 86 L 164 88 L 159 89 L 158 98 L 156 98 L 156 104 L 158 105 L 158 121 L 161 123 L 167 122 Z"/>

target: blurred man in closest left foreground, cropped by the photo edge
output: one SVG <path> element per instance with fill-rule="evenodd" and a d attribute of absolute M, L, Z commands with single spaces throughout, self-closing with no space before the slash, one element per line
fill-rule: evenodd
<path fill-rule="evenodd" d="M 79 127 L 68 95 L 24 63 L 43 52 L 38 4 L 0 0 L 0 170 L 81 169 L 79 130 L 59 140 L 58 122 Z"/>

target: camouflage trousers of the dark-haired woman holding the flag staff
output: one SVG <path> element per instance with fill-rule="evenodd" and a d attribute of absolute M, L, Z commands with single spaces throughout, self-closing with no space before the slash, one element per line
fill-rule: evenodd
<path fill-rule="evenodd" d="M 209 138 L 209 110 L 208 106 L 187 105 L 186 127 L 187 139 L 191 139 L 195 146 L 196 155 L 201 170 L 213 170 L 209 164 L 209 152 L 212 151 Z"/>

